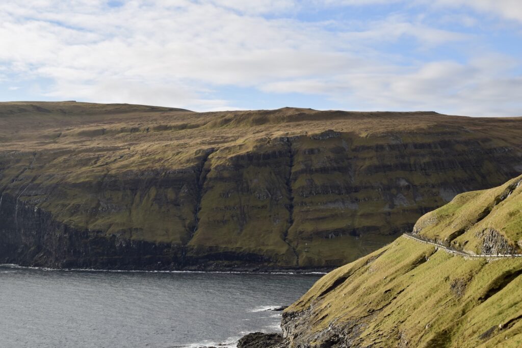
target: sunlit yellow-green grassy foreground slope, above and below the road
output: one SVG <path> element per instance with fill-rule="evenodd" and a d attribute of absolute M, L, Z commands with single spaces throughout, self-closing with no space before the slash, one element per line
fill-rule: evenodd
<path fill-rule="evenodd" d="M 483 245 L 483 231 L 494 230 L 514 247 L 521 182 L 457 196 L 417 230 L 443 238 L 466 221 L 460 244 Z M 484 206 L 494 207 L 485 217 Z M 325 275 L 282 326 L 292 347 L 519 347 L 521 319 L 522 257 L 462 257 L 402 237 Z"/>

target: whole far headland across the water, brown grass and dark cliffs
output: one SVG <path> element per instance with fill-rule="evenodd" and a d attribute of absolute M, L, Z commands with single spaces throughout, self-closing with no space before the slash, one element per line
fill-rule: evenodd
<path fill-rule="evenodd" d="M 317 268 L 522 170 L 521 118 L 0 104 L 0 261 Z"/>

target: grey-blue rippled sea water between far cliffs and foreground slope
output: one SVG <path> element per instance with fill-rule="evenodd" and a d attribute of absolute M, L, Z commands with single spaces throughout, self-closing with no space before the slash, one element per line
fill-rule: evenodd
<path fill-rule="evenodd" d="M 1 347 L 235 346 L 280 331 L 317 275 L 56 271 L 0 266 Z"/>

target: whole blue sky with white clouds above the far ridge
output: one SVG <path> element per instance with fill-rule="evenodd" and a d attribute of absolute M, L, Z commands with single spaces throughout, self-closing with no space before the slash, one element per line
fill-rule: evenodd
<path fill-rule="evenodd" d="M 522 116 L 522 1 L 2 0 L 14 100 Z"/>

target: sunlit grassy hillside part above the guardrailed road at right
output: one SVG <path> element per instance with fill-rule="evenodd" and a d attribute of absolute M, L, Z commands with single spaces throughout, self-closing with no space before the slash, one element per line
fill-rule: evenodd
<path fill-rule="evenodd" d="M 517 177 L 494 189 L 458 195 L 424 215 L 414 232 L 470 254 L 520 254 L 521 184 L 522 177 Z"/>

